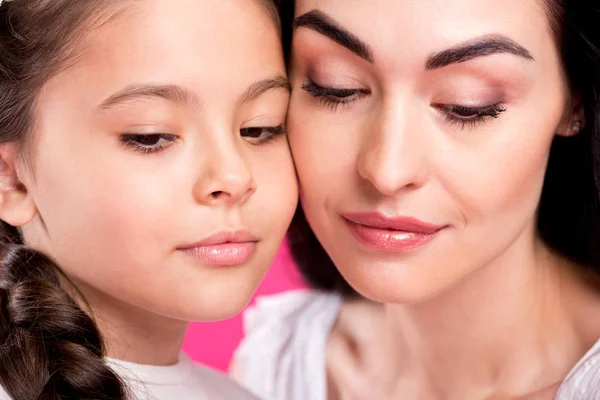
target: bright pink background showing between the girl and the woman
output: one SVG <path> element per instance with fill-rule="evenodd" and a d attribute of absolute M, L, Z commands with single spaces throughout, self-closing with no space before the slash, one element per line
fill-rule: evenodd
<path fill-rule="evenodd" d="M 284 245 L 256 296 L 301 287 L 302 279 L 295 270 L 287 246 Z M 242 318 L 238 315 L 223 322 L 192 324 L 183 349 L 192 359 L 226 371 L 231 355 L 241 338 Z"/>

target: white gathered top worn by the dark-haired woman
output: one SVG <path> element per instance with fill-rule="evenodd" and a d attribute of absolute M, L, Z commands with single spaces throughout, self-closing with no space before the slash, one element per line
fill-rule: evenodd
<path fill-rule="evenodd" d="M 342 302 L 316 291 L 259 298 L 244 314 L 237 378 L 264 400 L 327 400 L 325 346 Z M 569 373 L 556 400 L 600 400 L 600 341 Z"/>

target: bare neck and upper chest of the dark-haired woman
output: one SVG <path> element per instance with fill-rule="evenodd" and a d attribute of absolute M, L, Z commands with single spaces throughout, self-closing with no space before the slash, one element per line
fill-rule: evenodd
<path fill-rule="evenodd" d="M 435 298 L 386 305 L 390 381 L 411 376 L 420 398 L 481 399 L 564 378 L 588 345 L 571 313 L 576 274 L 535 239 L 521 239 Z"/>

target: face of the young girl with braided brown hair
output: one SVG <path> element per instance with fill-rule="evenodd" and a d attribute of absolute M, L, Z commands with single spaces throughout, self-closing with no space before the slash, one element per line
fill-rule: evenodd
<path fill-rule="evenodd" d="M 40 95 L 25 239 L 89 298 L 226 318 L 297 203 L 278 29 L 259 1 L 132 4 Z"/>

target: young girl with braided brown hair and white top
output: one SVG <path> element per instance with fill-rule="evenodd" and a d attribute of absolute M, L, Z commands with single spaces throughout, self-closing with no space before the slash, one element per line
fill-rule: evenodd
<path fill-rule="evenodd" d="M 296 206 L 277 18 L 1 4 L 1 398 L 251 397 L 179 351 L 246 304 Z"/>

